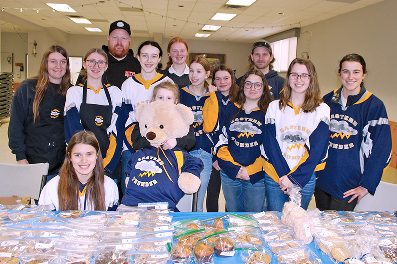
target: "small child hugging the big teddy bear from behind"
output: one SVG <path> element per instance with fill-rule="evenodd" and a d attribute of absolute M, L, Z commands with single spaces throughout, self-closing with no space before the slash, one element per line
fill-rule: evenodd
<path fill-rule="evenodd" d="M 178 86 L 170 81 L 165 81 L 156 85 L 153 89 L 153 97 L 151 101 L 167 101 L 177 104 L 179 102 Z M 141 136 L 139 123 L 137 123 L 132 130 L 131 141 L 135 151 L 138 151 L 139 149 L 142 148 L 148 148 L 150 146 L 156 148 L 159 147 L 159 145 L 150 143 L 149 141 L 147 141 L 145 137 Z M 195 146 L 195 143 L 196 143 L 196 139 L 195 139 L 194 128 L 193 125 L 190 125 L 188 135 L 182 138 L 168 139 L 164 141 L 164 143 L 161 146 L 163 150 L 169 150 L 174 147 L 180 147 L 189 151 Z"/>

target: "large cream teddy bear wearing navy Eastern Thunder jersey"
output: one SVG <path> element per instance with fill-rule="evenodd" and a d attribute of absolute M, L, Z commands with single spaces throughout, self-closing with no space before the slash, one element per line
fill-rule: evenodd
<path fill-rule="evenodd" d="M 171 210 L 178 211 L 176 204 L 184 193 L 199 190 L 203 163 L 182 148 L 163 150 L 161 144 L 186 136 L 194 121 L 193 113 L 185 105 L 164 101 L 141 104 L 134 113 L 142 137 L 159 147 L 142 148 L 132 154 L 126 171 L 126 194 L 121 203 L 136 206 L 168 202 Z"/>

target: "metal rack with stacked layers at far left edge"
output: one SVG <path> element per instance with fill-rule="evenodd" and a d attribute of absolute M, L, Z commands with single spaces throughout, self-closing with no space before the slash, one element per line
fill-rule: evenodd
<path fill-rule="evenodd" d="M 0 126 L 1 120 L 9 117 L 11 100 L 14 95 L 14 74 L 12 72 L 0 72 Z"/>

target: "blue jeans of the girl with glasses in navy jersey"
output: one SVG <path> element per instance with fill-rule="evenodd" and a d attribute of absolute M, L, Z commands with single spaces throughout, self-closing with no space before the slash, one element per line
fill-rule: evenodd
<path fill-rule="evenodd" d="M 261 212 L 264 208 L 264 179 L 252 184 L 250 181 L 232 180 L 220 171 L 226 209 L 229 212 Z"/>

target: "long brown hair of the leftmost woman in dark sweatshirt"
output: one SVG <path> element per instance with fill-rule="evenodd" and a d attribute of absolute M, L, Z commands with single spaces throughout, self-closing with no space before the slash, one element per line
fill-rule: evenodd
<path fill-rule="evenodd" d="M 69 56 L 67 55 L 67 52 L 63 47 L 58 45 L 52 45 L 50 48 L 48 48 L 47 51 L 44 52 L 43 58 L 41 59 L 39 73 L 37 74 L 37 76 L 32 78 L 32 79 L 37 79 L 36 93 L 34 95 L 34 100 L 33 100 L 34 122 L 39 120 L 40 102 L 43 99 L 49 87 L 50 79 L 48 78 L 49 74 L 47 69 L 47 60 L 48 60 L 48 56 L 53 52 L 61 53 L 61 55 L 63 55 L 66 58 L 66 63 L 67 63 L 65 75 L 62 77 L 61 83 L 57 85 L 55 92 L 66 97 L 67 89 L 69 89 L 71 85 Z"/>

